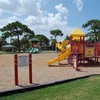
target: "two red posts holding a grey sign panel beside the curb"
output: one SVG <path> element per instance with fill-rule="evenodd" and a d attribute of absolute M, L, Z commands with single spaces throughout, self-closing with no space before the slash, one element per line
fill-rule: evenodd
<path fill-rule="evenodd" d="M 32 55 L 14 55 L 15 85 L 18 85 L 18 67 L 29 66 L 29 83 L 32 84 Z"/>

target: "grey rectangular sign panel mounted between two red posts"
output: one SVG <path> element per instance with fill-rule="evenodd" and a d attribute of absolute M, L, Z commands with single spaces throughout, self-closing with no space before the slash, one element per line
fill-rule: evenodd
<path fill-rule="evenodd" d="M 28 59 L 28 56 L 25 55 L 25 56 L 18 56 L 18 66 L 19 67 L 23 67 L 23 66 L 28 66 L 28 63 L 29 62 L 29 59 Z"/>

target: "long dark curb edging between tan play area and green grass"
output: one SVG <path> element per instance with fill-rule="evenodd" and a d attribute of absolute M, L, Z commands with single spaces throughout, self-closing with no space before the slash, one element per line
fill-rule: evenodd
<path fill-rule="evenodd" d="M 100 74 L 86 75 L 86 76 L 82 76 L 82 77 L 57 81 L 57 82 L 54 82 L 54 83 L 49 83 L 49 84 L 44 84 L 44 85 L 35 85 L 35 86 L 32 85 L 32 86 L 23 87 L 21 89 L 13 89 L 13 90 L 8 90 L 8 91 L 3 91 L 3 92 L 0 92 L 0 97 L 8 96 L 8 95 L 16 94 L 16 93 L 33 91 L 33 90 L 36 90 L 36 89 L 46 88 L 48 86 L 54 86 L 54 85 L 63 84 L 63 83 L 75 81 L 75 80 L 78 80 L 78 79 L 83 79 L 83 78 L 88 78 L 90 76 L 98 76 L 98 75 L 100 75 Z"/>

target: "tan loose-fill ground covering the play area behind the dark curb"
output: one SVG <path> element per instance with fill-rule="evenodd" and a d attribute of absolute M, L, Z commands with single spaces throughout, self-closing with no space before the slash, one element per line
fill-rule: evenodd
<path fill-rule="evenodd" d="M 23 54 L 27 55 L 27 54 Z M 46 84 L 55 81 L 66 80 L 70 78 L 100 74 L 100 67 L 80 67 L 81 71 L 76 71 L 70 65 L 58 65 L 49 67 L 47 62 L 55 58 L 58 54 L 55 52 L 41 52 L 32 55 L 32 76 L 33 84 Z M 63 61 L 62 63 L 66 63 Z M 14 84 L 14 55 L 0 55 L 0 91 L 21 88 L 29 84 L 28 66 L 18 67 L 19 85 Z"/>

